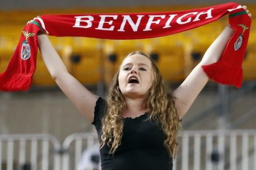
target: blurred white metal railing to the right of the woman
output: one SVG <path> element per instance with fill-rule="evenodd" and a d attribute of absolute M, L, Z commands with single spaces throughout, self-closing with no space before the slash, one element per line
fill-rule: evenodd
<path fill-rule="evenodd" d="M 181 138 L 176 169 L 256 169 L 254 130 L 184 131 Z"/>

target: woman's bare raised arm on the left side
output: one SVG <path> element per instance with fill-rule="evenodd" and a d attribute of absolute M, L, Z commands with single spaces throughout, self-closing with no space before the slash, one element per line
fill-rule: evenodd
<path fill-rule="evenodd" d="M 79 111 L 82 112 L 89 121 L 93 122 L 94 107 L 98 96 L 92 94 L 83 84 L 68 73 L 66 66 L 63 64 L 45 34 L 38 35 L 37 39 L 43 61 L 52 78 Z"/>

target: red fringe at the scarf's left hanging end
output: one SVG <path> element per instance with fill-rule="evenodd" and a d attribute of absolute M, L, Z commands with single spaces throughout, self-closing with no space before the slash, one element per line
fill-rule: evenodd
<path fill-rule="evenodd" d="M 27 91 L 33 80 L 31 74 L 7 73 L 0 74 L 1 91 Z"/>

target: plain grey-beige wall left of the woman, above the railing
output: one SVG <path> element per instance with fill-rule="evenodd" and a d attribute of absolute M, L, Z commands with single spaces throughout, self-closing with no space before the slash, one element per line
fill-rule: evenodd
<path fill-rule="evenodd" d="M 93 130 L 62 92 L 0 94 L 0 133 L 50 133 L 59 140 Z"/>

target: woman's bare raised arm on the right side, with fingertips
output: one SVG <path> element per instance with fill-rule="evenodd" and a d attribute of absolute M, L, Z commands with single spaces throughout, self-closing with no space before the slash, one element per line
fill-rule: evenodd
<path fill-rule="evenodd" d="M 246 10 L 247 7 L 243 7 Z M 251 13 L 249 13 L 248 10 L 246 10 L 246 12 L 251 16 Z M 202 61 L 193 69 L 185 81 L 173 91 L 175 106 L 177 107 L 180 118 L 187 113 L 199 92 L 202 91 L 209 80 L 201 66 L 219 61 L 219 58 L 233 33 L 234 30 L 227 25 L 217 39 L 214 40 L 212 45 L 206 50 Z"/>

